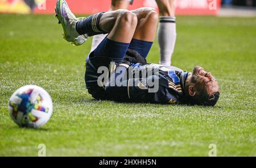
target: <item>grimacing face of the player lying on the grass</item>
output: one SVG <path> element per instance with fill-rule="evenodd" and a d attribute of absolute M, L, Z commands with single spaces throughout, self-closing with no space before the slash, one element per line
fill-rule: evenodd
<path fill-rule="evenodd" d="M 201 66 L 195 66 L 193 69 L 192 80 L 197 83 L 197 86 L 202 89 L 205 88 L 208 94 L 219 91 L 216 79 L 211 73 L 206 72 Z"/>

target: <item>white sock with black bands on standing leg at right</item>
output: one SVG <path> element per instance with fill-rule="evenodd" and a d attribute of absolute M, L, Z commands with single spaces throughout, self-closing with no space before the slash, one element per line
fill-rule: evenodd
<path fill-rule="evenodd" d="M 158 42 L 160 47 L 159 64 L 171 65 L 171 58 L 175 48 L 176 36 L 175 17 L 160 16 L 158 24 Z"/>

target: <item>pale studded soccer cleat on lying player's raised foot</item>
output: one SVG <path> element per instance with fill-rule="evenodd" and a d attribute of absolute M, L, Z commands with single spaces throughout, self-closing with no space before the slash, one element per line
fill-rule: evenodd
<path fill-rule="evenodd" d="M 76 18 L 71 12 L 68 4 L 65 0 L 58 0 L 55 6 L 56 18 L 59 20 L 59 24 L 63 27 L 64 39 L 68 42 L 72 42 L 73 45 L 82 45 L 87 39 L 88 35 L 79 35 L 76 31 L 76 23 L 84 18 Z"/>

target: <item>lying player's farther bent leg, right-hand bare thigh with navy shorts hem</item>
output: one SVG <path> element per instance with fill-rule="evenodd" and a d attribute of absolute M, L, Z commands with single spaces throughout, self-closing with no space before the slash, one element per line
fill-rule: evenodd
<path fill-rule="evenodd" d="M 138 24 L 129 48 L 146 58 L 155 39 L 158 14 L 155 9 L 149 7 L 143 7 L 131 12 L 137 15 Z"/>

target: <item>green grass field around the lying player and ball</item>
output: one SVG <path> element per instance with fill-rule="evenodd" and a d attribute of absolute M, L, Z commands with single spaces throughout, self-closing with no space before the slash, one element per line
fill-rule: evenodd
<path fill-rule="evenodd" d="M 52 15 L 0 15 L 0 156 L 256 156 L 256 18 L 178 16 L 172 65 L 201 65 L 218 79 L 215 107 L 96 101 L 86 91 L 91 39 L 74 47 Z M 158 63 L 158 44 L 148 62 Z M 19 128 L 7 102 L 20 86 L 42 86 L 53 115 Z"/>

